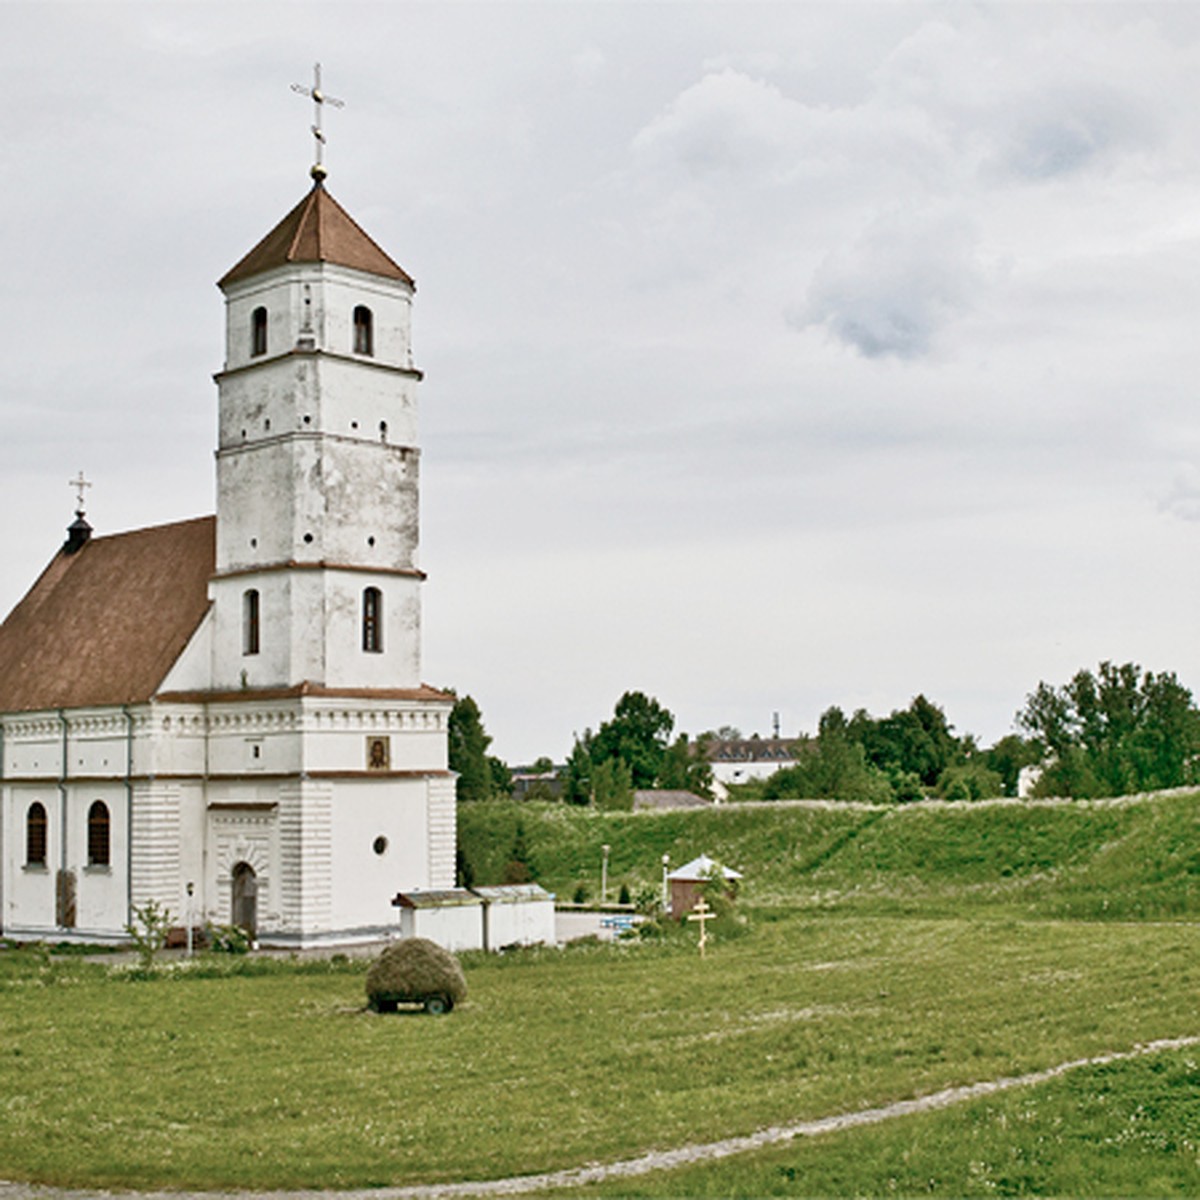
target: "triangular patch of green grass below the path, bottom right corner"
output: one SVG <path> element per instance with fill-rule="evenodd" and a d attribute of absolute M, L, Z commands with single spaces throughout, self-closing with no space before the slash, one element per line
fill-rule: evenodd
<path fill-rule="evenodd" d="M 1074 1070 L 953 1110 L 545 1195 L 1195 1196 L 1196 1051 Z"/>

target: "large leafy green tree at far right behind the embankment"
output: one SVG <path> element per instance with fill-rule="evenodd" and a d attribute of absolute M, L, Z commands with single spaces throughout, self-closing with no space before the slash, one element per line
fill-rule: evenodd
<path fill-rule="evenodd" d="M 1171 672 L 1102 662 L 1061 688 L 1039 683 L 1016 722 L 1043 755 L 1039 796 L 1122 796 L 1196 780 L 1200 713 Z"/>

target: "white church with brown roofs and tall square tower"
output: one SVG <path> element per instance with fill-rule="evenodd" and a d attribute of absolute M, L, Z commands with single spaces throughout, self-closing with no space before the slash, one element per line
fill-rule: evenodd
<path fill-rule="evenodd" d="M 94 536 L 80 503 L 0 625 L 8 937 L 120 941 L 154 900 L 349 944 L 397 931 L 397 892 L 454 886 L 415 288 L 312 174 L 218 282 L 215 516 Z"/>

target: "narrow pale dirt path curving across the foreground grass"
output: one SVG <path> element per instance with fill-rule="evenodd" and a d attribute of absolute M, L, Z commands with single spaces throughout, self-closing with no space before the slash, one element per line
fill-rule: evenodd
<path fill-rule="evenodd" d="M 187 1196 L 199 1196 L 203 1200 L 314 1200 L 317 1196 L 336 1196 L 337 1200 L 440 1200 L 455 1196 L 508 1196 L 528 1192 L 546 1192 L 552 1188 L 569 1188 L 581 1183 L 599 1183 L 604 1180 L 634 1178 L 648 1175 L 650 1171 L 668 1170 L 673 1166 L 685 1166 L 690 1163 L 712 1162 L 742 1154 L 763 1146 L 792 1141 L 794 1138 L 815 1138 L 823 1133 L 835 1133 L 839 1129 L 852 1129 L 857 1126 L 878 1124 L 893 1117 L 905 1117 L 913 1112 L 931 1112 L 935 1109 L 947 1109 L 964 1100 L 973 1100 L 979 1096 L 991 1096 L 1006 1092 L 1013 1087 L 1028 1087 L 1032 1084 L 1045 1084 L 1069 1070 L 1080 1067 L 1098 1067 L 1108 1062 L 1121 1062 L 1126 1058 L 1139 1058 L 1144 1055 L 1158 1054 L 1163 1050 L 1182 1050 L 1200 1045 L 1200 1037 L 1163 1038 L 1147 1042 L 1114 1054 L 1094 1055 L 1091 1058 L 1075 1058 L 1070 1062 L 1048 1067 L 1045 1070 L 1030 1072 L 1027 1075 L 1008 1075 L 991 1079 L 982 1084 L 966 1084 L 961 1087 L 947 1087 L 928 1096 L 918 1096 L 911 1100 L 895 1100 L 878 1108 L 858 1109 L 853 1112 L 839 1112 L 835 1116 L 818 1117 L 814 1121 L 798 1121 L 794 1124 L 773 1126 L 742 1138 L 725 1138 L 695 1146 L 680 1146 L 678 1150 L 652 1151 L 637 1158 L 628 1158 L 618 1163 L 596 1163 L 590 1166 L 572 1166 L 562 1171 L 546 1171 L 542 1175 L 517 1175 L 506 1180 L 481 1180 L 468 1183 L 431 1183 L 407 1188 L 368 1188 L 350 1192 L 142 1192 L 142 1200 L 185 1200 Z M 5 1183 L 0 1181 L 0 1200 L 100 1200 L 100 1198 L 119 1195 L 120 1193 L 100 1190 L 68 1190 L 62 1188 L 31 1187 L 25 1183 Z"/>

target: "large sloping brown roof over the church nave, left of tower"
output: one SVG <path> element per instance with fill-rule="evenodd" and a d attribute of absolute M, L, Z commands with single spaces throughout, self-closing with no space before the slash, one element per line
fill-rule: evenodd
<path fill-rule="evenodd" d="M 149 700 L 209 606 L 216 517 L 60 550 L 0 625 L 0 713 Z"/>

